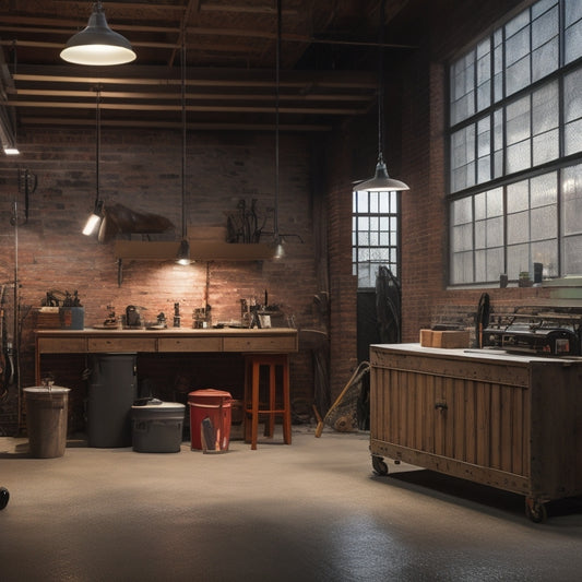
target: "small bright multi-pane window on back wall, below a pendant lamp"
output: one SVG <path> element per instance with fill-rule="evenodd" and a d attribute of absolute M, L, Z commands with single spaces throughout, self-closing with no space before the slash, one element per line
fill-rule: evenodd
<path fill-rule="evenodd" d="M 376 286 L 380 265 L 399 276 L 397 204 L 396 192 L 354 192 L 352 263 L 358 288 Z"/>

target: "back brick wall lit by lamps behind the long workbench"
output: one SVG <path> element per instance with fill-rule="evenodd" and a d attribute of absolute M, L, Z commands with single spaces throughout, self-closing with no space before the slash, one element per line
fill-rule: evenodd
<path fill-rule="evenodd" d="M 11 318 L 14 280 L 15 229 L 10 225 L 13 201 L 21 221 L 24 195 L 19 193 L 16 169 L 38 177 L 29 197 L 29 219 L 17 228 L 20 301 L 40 306 L 49 289 L 79 290 L 85 324 L 100 323 L 107 306 L 119 313 L 127 305 L 143 306 L 147 320 L 164 311 L 171 323 L 174 302 L 180 302 L 182 325 L 191 326 L 194 308 L 204 305 L 206 264 L 181 268 L 169 262 L 126 261 L 118 286 L 112 244 L 102 245 L 81 234 L 95 198 L 95 133 L 90 130 L 21 131 L 17 161 L 0 158 L 0 281 L 9 287 L 7 311 Z M 301 328 L 317 322 L 313 295 L 318 292 L 313 261 L 310 159 L 307 138 L 281 135 L 280 230 L 289 238 L 283 261 L 212 262 L 209 302 L 213 320 L 240 317 L 241 297 L 278 304 Z M 187 164 L 187 223 L 225 225 L 239 199 L 258 199 L 268 215 L 265 231 L 273 229 L 274 138 L 270 134 L 190 133 Z M 161 214 L 181 225 L 181 139 L 170 131 L 102 129 L 100 194 L 106 204 L 119 202 L 139 212 Z M 269 240 L 269 236 L 266 236 Z M 24 321 L 21 345 L 22 385 L 34 382 L 33 319 Z M 12 332 L 12 322 L 8 322 Z M 11 333 L 12 335 L 12 333 Z M 292 357 L 292 381 L 298 397 L 311 397 L 310 355 Z M 14 395 L 0 402 L 0 433 L 13 427 Z M 7 425 L 9 428 L 7 429 Z"/>

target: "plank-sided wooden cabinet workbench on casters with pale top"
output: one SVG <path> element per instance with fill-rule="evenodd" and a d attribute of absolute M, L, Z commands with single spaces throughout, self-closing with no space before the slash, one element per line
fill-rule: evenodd
<path fill-rule="evenodd" d="M 370 346 L 370 451 L 525 496 L 526 514 L 582 494 L 582 360 Z"/>

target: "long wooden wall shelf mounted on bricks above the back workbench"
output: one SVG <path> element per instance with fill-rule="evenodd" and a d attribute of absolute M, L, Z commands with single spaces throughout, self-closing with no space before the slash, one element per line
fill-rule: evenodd
<path fill-rule="evenodd" d="M 115 257 L 130 261 L 170 261 L 176 258 L 178 241 L 116 240 Z M 193 261 L 266 261 L 273 258 L 273 247 L 264 242 L 230 244 L 190 239 Z"/>

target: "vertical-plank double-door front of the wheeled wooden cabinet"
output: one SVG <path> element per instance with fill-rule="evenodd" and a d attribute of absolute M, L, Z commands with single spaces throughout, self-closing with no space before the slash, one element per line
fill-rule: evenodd
<path fill-rule="evenodd" d="M 526 387 L 385 368 L 371 384 L 372 439 L 528 475 Z"/>

